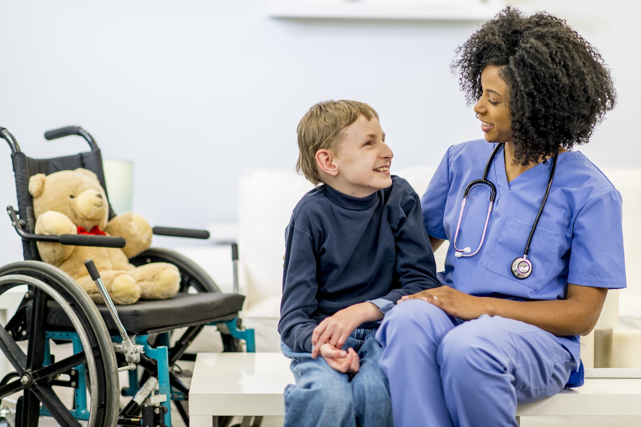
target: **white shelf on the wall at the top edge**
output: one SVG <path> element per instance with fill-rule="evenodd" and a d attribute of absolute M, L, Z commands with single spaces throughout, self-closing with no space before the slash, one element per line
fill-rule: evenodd
<path fill-rule="evenodd" d="M 271 0 L 267 13 L 290 19 L 397 19 L 397 20 L 472 20 L 485 21 L 503 6 L 503 1 L 478 3 L 416 4 L 337 1 L 313 3 L 294 0 Z"/>

